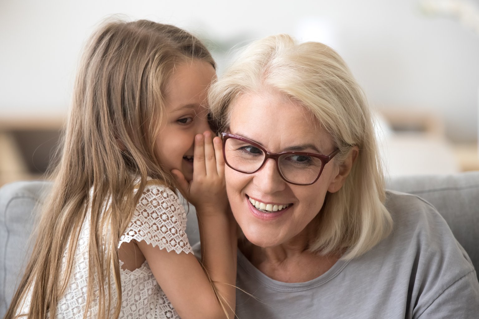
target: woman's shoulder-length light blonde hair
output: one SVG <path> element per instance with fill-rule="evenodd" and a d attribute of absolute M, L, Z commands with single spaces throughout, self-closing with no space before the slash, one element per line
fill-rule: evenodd
<path fill-rule="evenodd" d="M 351 146 L 358 147 L 345 184 L 326 195 L 309 250 L 322 254 L 346 251 L 345 259 L 367 252 L 388 235 L 392 219 L 384 206 L 384 176 L 371 113 L 348 67 L 325 44 L 297 44 L 284 34 L 258 40 L 209 90 L 218 128 L 228 130 L 232 107 L 241 96 L 265 90 L 299 102 L 316 117 L 340 149 L 334 157 L 336 165 L 344 161 Z"/>

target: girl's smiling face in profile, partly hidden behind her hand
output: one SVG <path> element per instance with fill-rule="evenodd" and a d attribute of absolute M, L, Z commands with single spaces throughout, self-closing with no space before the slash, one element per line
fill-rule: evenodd
<path fill-rule="evenodd" d="M 175 66 L 166 87 L 166 112 L 155 141 L 155 154 L 166 170 L 180 170 L 187 181 L 193 179 L 194 136 L 210 130 L 206 92 L 215 77 L 209 63 L 187 61 Z"/>

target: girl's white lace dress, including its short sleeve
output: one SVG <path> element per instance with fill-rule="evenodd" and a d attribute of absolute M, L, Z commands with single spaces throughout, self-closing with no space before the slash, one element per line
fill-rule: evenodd
<path fill-rule="evenodd" d="M 87 297 L 89 228 L 86 219 L 80 231 L 68 287 L 64 297 L 58 302 L 57 318 L 83 318 Z M 179 198 L 167 187 L 148 185 L 143 190 L 130 224 L 120 238 L 118 248 L 123 242 L 136 240 L 145 241 L 172 253 L 193 253 L 185 231 L 186 213 Z M 120 274 L 122 306 L 119 318 L 180 318 L 146 261 L 133 271 L 120 268 Z M 116 294 L 113 285 L 112 292 Z M 28 294 L 19 313 L 28 310 L 30 299 Z M 112 300 L 116 300 L 116 295 L 112 296 Z M 97 313 L 98 300 L 93 300 L 88 318 L 96 318 Z"/>

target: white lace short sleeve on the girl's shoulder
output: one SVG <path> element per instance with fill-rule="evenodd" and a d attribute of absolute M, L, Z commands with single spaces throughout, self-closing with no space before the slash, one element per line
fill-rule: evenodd
<path fill-rule="evenodd" d="M 136 240 L 168 252 L 193 253 L 185 231 L 186 213 L 178 197 L 168 187 L 149 185 L 143 190 L 118 248 L 123 242 Z"/>

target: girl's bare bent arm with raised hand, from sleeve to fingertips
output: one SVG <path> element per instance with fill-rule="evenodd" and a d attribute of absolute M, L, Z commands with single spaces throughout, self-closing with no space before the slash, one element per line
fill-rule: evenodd
<path fill-rule="evenodd" d="M 205 132 L 194 143 L 193 181 L 188 183 L 177 170 L 173 173 L 198 213 L 204 269 L 193 254 L 169 253 L 144 241 L 137 245 L 182 319 L 234 318 L 236 228 L 228 213 L 221 140 L 216 137 L 213 143 L 211 132 Z"/>

